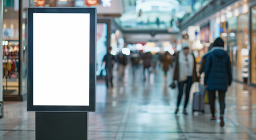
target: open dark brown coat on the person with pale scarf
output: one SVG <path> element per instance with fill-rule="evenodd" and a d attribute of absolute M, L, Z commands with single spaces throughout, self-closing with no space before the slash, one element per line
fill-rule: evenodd
<path fill-rule="evenodd" d="M 178 81 L 178 82 L 181 82 L 179 80 L 179 65 L 178 65 L 178 54 L 180 52 L 178 52 L 176 54 L 176 57 L 175 57 L 175 60 L 176 60 L 176 64 L 175 64 L 175 67 L 174 67 L 174 74 L 173 74 L 173 81 Z M 199 82 L 199 78 L 197 76 L 197 71 L 196 71 L 196 58 L 194 57 L 194 54 L 193 54 L 193 58 L 194 58 L 194 67 L 193 67 L 193 75 L 192 75 L 192 78 L 193 78 L 193 82 Z"/>

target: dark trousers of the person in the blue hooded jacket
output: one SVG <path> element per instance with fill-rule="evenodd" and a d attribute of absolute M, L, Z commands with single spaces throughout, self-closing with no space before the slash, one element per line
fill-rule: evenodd
<path fill-rule="evenodd" d="M 208 95 L 210 98 L 210 106 L 211 106 L 211 114 L 215 115 L 215 99 L 216 99 L 216 91 L 208 91 Z M 225 110 L 225 91 L 218 91 L 218 101 L 220 103 L 220 114 L 224 115 Z"/>

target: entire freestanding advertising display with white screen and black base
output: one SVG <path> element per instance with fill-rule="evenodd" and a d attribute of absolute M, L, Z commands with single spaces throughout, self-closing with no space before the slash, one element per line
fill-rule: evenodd
<path fill-rule="evenodd" d="M 96 19 L 96 8 L 28 8 L 28 111 L 36 111 L 36 140 L 88 139 Z"/>

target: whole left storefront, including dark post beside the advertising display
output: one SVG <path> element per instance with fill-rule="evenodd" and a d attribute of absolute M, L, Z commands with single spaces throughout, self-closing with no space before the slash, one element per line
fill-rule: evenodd
<path fill-rule="evenodd" d="M 29 0 L 4 0 L 4 100 L 26 99 L 26 8 Z"/>

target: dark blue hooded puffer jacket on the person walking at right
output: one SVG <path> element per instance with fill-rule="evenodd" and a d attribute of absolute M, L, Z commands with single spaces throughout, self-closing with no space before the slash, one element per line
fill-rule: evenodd
<path fill-rule="evenodd" d="M 227 91 L 231 82 L 230 56 L 223 50 L 223 47 L 213 47 L 213 50 L 207 54 L 206 58 L 204 85 L 208 85 L 208 90 L 210 91 Z"/>

